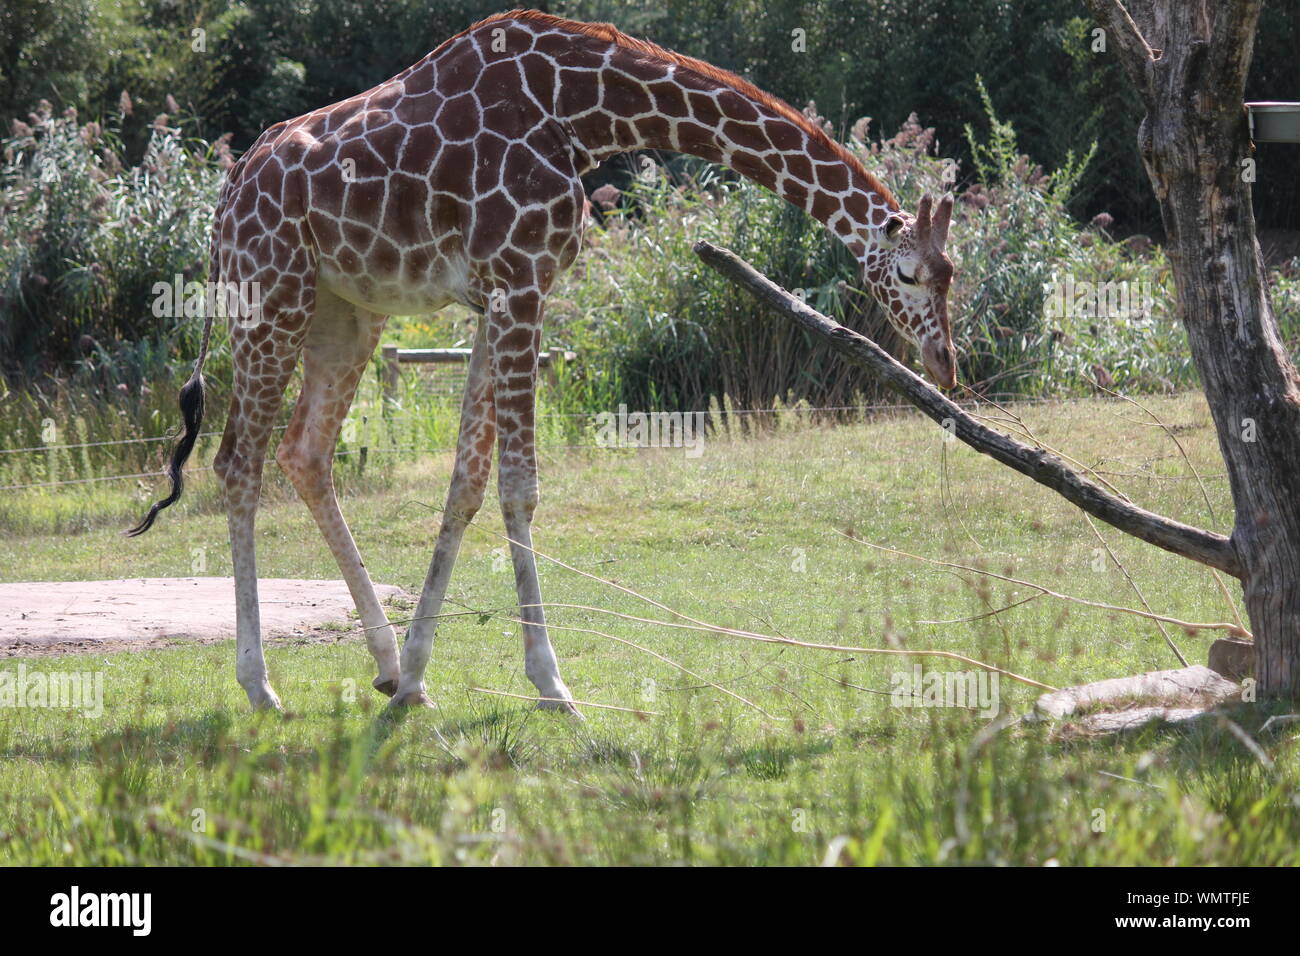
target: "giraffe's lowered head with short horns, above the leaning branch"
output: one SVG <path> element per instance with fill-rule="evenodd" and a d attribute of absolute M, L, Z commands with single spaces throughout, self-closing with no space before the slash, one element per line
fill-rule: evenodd
<path fill-rule="evenodd" d="M 957 384 L 957 350 L 948 324 L 953 263 L 944 255 L 952 217 L 952 196 L 937 206 L 923 196 L 915 217 L 894 212 L 885 220 L 863 260 L 871 294 L 889 323 L 920 351 L 930 377 L 945 389 Z"/>

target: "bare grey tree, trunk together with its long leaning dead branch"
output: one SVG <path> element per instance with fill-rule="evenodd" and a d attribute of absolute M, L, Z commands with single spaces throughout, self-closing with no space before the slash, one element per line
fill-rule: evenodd
<path fill-rule="evenodd" d="M 1145 511 L 1052 455 L 985 428 L 875 343 L 734 255 L 711 267 L 887 384 L 971 447 L 1144 541 L 1240 579 L 1265 697 L 1300 697 L 1300 378 L 1282 343 L 1251 208 L 1243 107 L 1262 0 L 1086 0 L 1136 85 L 1138 147 L 1165 224 L 1178 307 L 1214 416 L 1235 524 L 1223 537 Z"/>

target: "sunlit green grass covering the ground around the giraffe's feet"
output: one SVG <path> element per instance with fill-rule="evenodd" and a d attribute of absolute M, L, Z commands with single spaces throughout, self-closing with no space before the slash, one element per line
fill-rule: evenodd
<path fill-rule="evenodd" d="M 1227 529 L 1230 507 L 1197 395 L 1150 399 L 1182 427 L 1214 518 L 1176 449 L 1131 406 L 1078 401 L 1019 411 L 1044 441 L 1138 502 Z M 948 649 L 1052 685 L 1176 666 L 1138 618 L 1046 598 L 970 618 L 1024 593 L 874 551 L 836 531 L 1138 606 L 1083 518 L 1048 490 L 906 415 L 840 428 L 777 423 L 764 437 L 712 436 L 681 450 L 543 455 L 536 546 L 711 623 L 797 640 Z M 400 459 L 344 481 L 343 509 L 377 581 L 416 592 L 450 471 Z M 264 576 L 337 570 L 283 476 L 268 472 Z M 1134 476 L 1141 477 L 1134 477 Z M 229 574 L 212 479 L 147 537 L 122 518 L 152 489 L 69 489 L 10 502 L 5 580 Z M 58 502 L 58 503 L 55 503 Z M 1100 528 L 1152 607 L 1187 620 L 1231 610 L 1202 568 Z M 465 540 L 447 610 L 514 600 L 495 570 L 489 507 Z M 1095 570 L 1095 568 L 1102 570 Z M 663 618 L 633 597 L 542 562 L 549 601 Z M 185 609 L 178 607 L 177 614 Z M 403 615 L 402 607 L 393 611 Z M 592 611 L 551 622 L 636 641 L 705 680 L 590 632 L 552 632 L 588 701 L 584 723 L 533 711 L 517 628 L 504 614 L 448 618 L 428 683 L 432 711 L 381 719 L 355 632 L 266 650 L 287 717 L 247 713 L 231 644 L 29 659 L 101 671 L 104 714 L 0 709 L 0 860 L 9 864 L 1296 864 L 1300 779 L 1275 709 L 1228 717 L 1258 735 L 1266 767 L 1218 718 L 1122 740 L 1044 727 L 982 735 L 961 708 L 892 706 L 892 674 L 915 659 L 754 644 Z M 1209 632 L 1171 631 L 1192 662 Z M 13 670 L 20 661 L 4 662 Z M 727 696 L 722 684 L 770 714 Z M 1002 680 L 1004 714 L 1036 691 Z M 842 839 L 841 839 L 842 838 Z M 833 847 L 833 849 L 832 849 Z"/>

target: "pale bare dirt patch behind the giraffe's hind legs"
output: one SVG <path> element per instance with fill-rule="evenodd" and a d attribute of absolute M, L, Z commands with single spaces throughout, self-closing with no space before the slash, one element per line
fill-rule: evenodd
<path fill-rule="evenodd" d="M 376 585 L 384 602 L 400 588 Z M 274 640 L 360 640 L 343 581 L 257 581 L 261 633 Z M 235 636 L 230 578 L 0 584 L 0 658 L 146 650 Z"/>

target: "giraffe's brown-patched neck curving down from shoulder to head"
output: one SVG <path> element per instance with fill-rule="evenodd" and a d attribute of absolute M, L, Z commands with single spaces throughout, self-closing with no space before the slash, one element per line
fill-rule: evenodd
<path fill-rule="evenodd" d="M 857 159 L 749 83 L 697 61 L 580 42 L 598 46 L 603 62 L 562 70 L 555 105 L 590 165 L 630 150 L 722 163 L 807 212 L 859 258 L 897 212 Z"/>

